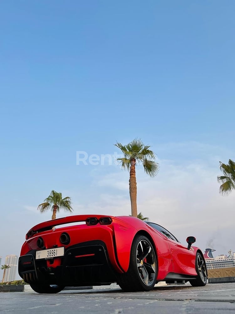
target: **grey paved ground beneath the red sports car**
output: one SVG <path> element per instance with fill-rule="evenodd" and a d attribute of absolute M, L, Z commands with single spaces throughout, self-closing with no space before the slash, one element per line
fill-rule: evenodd
<path fill-rule="evenodd" d="M 63 290 L 55 295 L 0 293 L 0 313 L 235 313 L 235 283 L 155 286 L 149 292 L 121 289 Z"/>

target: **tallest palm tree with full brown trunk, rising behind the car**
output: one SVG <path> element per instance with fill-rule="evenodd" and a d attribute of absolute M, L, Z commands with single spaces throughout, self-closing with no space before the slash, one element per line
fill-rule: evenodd
<path fill-rule="evenodd" d="M 154 161 L 156 155 L 149 149 L 150 146 L 144 145 L 141 139 L 135 138 L 131 143 L 124 146 L 121 143 L 116 143 L 115 146 L 120 148 L 124 154 L 123 158 L 118 158 L 117 160 L 120 160 L 124 170 L 130 171 L 129 191 L 131 199 L 131 215 L 137 217 L 137 186 L 135 176 L 136 163 L 142 163 L 144 171 L 151 177 L 157 175 L 159 171 L 159 164 Z"/>

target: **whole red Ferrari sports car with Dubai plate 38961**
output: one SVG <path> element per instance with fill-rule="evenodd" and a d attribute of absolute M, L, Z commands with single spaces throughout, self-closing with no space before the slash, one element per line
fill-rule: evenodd
<path fill-rule="evenodd" d="M 186 241 L 183 245 L 162 226 L 132 216 L 69 216 L 29 230 L 18 272 L 38 293 L 113 282 L 124 291 L 149 291 L 159 281 L 204 286 L 205 259 L 191 246 L 195 237 Z"/>

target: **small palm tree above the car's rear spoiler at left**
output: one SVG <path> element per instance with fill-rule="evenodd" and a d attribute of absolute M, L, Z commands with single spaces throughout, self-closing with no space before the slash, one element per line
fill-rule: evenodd
<path fill-rule="evenodd" d="M 45 213 L 48 209 L 52 211 L 51 219 L 56 218 L 56 213 L 59 213 L 60 209 L 63 209 L 65 212 L 72 213 L 73 208 L 71 207 L 71 198 L 65 197 L 62 198 L 62 193 L 51 191 L 50 195 L 44 199 L 44 203 L 38 205 L 38 210 L 40 213 Z"/>

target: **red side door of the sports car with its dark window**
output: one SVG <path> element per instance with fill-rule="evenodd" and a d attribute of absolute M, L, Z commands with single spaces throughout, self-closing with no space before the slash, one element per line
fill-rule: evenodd
<path fill-rule="evenodd" d="M 188 246 L 182 245 L 168 230 L 154 223 L 151 223 L 151 225 L 168 240 L 174 273 L 195 275 L 194 248 L 191 247 L 188 250 Z"/>

